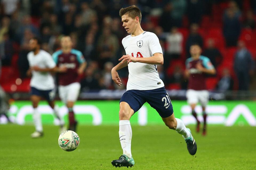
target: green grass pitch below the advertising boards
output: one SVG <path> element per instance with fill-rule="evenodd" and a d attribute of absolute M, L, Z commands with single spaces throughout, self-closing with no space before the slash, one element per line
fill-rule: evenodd
<path fill-rule="evenodd" d="M 189 128 L 198 146 L 194 156 L 174 130 L 132 125 L 132 169 L 256 169 L 255 127 L 209 126 L 205 137 L 195 133 L 194 126 Z M 80 144 L 66 152 L 58 146 L 57 126 L 45 125 L 45 136 L 31 139 L 33 126 L 0 125 L 0 170 L 115 169 L 111 161 L 123 153 L 118 130 L 118 126 L 79 126 Z"/>

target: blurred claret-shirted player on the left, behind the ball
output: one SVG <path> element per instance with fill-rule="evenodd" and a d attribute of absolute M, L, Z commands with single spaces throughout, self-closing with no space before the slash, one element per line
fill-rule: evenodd
<path fill-rule="evenodd" d="M 60 68 L 66 68 L 65 73 L 59 73 L 59 97 L 69 110 L 69 130 L 76 131 L 77 121 L 74 117 L 73 106 L 80 92 L 80 78 L 86 67 L 82 52 L 72 49 L 69 36 L 61 39 L 61 49 L 53 53 L 53 60 Z"/>

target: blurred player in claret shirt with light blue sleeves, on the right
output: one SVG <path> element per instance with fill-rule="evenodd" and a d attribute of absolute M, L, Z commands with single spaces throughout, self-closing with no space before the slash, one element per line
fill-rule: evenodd
<path fill-rule="evenodd" d="M 209 100 L 209 92 L 206 90 L 207 74 L 216 74 L 216 70 L 209 58 L 201 56 L 202 49 L 198 44 L 190 46 L 191 57 L 186 60 L 185 75 L 189 77 L 188 90 L 186 93 L 187 102 L 191 106 L 192 115 L 197 120 L 196 131 L 200 130 L 200 121 L 195 112 L 195 106 L 199 102 L 203 111 L 203 135 L 206 134 L 206 111 L 205 107 Z"/>

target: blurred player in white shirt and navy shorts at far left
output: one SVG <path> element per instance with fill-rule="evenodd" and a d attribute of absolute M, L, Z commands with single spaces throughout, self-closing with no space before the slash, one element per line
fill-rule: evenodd
<path fill-rule="evenodd" d="M 32 138 L 43 136 L 43 126 L 41 121 L 41 114 L 38 112 L 38 103 L 41 97 L 44 97 L 50 107 L 53 109 L 56 117 L 60 121 L 60 132 L 63 130 L 64 121 L 59 115 L 58 107 L 55 106 L 55 85 L 51 72 L 63 72 L 65 68 L 58 68 L 49 53 L 41 50 L 41 41 L 38 38 L 33 38 L 29 41 L 30 49 L 32 50 L 27 54 L 29 61 L 28 76 L 32 76 L 30 80 L 31 96 L 30 99 L 33 104 L 33 119 L 35 124 L 35 132 L 31 134 Z"/>

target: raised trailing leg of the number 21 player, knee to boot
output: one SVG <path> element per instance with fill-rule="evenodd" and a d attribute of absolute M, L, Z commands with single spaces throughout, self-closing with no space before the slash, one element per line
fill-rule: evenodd
<path fill-rule="evenodd" d="M 175 118 L 174 114 L 162 119 L 165 122 L 166 126 L 182 135 L 187 143 L 187 150 L 191 155 L 195 155 L 195 153 L 197 152 L 197 143 L 195 142 L 195 139 L 193 138 L 190 129 L 186 128 L 182 120 Z"/>

